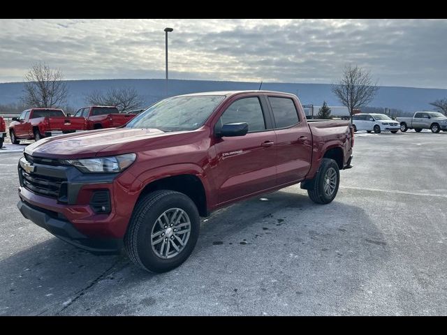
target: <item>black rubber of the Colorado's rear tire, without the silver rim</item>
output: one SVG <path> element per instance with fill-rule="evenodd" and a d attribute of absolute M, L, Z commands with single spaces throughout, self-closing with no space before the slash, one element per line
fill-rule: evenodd
<path fill-rule="evenodd" d="M 325 192 L 324 186 L 326 182 L 325 180 L 326 173 L 330 169 L 335 170 L 337 181 L 335 181 L 334 191 L 331 194 L 328 194 Z M 338 192 L 339 183 L 340 183 L 340 172 L 337 162 L 331 158 L 323 158 L 315 178 L 312 181 L 309 181 L 309 189 L 307 190 L 307 194 L 309 195 L 309 198 L 317 204 L 328 204 L 329 202 L 335 199 L 335 196 L 337 195 Z"/>

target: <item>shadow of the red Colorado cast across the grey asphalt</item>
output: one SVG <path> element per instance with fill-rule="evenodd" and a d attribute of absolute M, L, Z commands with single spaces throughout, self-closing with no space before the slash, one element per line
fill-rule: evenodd
<path fill-rule="evenodd" d="M 0 309 L 0 315 L 70 313 L 71 301 L 87 293 L 98 295 L 96 302 L 77 313 L 161 313 L 163 305 L 156 301 L 166 300 L 166 283 L 177 303 L 192 309 L 201 298 L 191 292 L 214 295 L 203 285 L 224 297 L 248 290 L 274 311 L 280 311 L 274 301 L 307 301 L 302 308 L 309 309 L 302 313 L 324 313 L 324 297 L 334 295 L 331 301 L 342 306 L 386 262 L 390 250 L 362 208 L 342 202 L 341 195 L 316 205 L 298 190 L 293 186 L 217 211 L 203 220 L 189 260 L 166 274 L 148 274 L 124 255 L 95 256 L 50 238 L 1 260 L 0 297 L 9 308 Z M 128 297 L 140 290 L 147 296 Z M 242 300 L 232 313 L 243 315 L 250 304 Z"/>

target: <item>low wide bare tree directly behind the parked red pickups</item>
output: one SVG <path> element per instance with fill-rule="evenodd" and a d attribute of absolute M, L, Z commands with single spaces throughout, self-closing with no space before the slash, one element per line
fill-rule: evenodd
<path fill-rule="evenodd" d="M 138 91 L 131 87 L 112 88 L 107 91 L 91 91 L 85 97 L 85 102 L 90 105 L 115 106 L 119 112 L 135 110 L 144 103 Z"/>

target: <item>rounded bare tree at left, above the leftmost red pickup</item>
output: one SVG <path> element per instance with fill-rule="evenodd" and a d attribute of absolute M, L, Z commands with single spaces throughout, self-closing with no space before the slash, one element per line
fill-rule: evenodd
<path fill-rule="evenodd" d="M 29 107 L 59 107 L 66 102 L 68 89 L 60 69 L 37 63 L 24 77 L 22 101 Z"/>

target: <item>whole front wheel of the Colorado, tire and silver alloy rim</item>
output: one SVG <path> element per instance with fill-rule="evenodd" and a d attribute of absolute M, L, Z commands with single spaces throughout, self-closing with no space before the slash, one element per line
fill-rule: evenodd
<path fill-rule="evenodd" d="M 176 191 L 154 191 L 136 204 L 124 246 L 142 269 L 170 271 L 189 257 L 199 228 L 198 210 L 189 197 Z"/>

